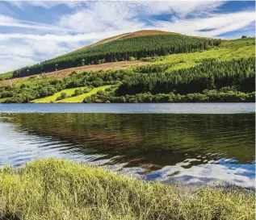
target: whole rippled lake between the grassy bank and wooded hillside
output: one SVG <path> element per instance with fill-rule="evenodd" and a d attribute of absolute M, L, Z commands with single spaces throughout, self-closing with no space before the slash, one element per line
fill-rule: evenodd
<path fill-rule="evenodd" d="M 0 112 L 0 166 L 53 156 L 149 181 L 254 187 L 254 103 L 2 104 Z"/>

